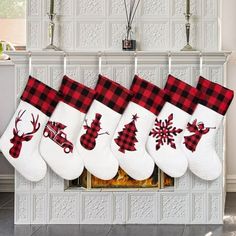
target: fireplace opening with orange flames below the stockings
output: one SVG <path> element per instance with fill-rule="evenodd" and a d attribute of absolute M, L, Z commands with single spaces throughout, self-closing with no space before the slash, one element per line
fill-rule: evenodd
<path fill-rule="evenodd" d="M 174 178 L 171 178 L 158 167 L 155 167 L 150 178 L 142 181 L 132 179 L 124 170 L 119 168 L 117 175 L 111 180 L 101 180 L 84 170 L 82 175 L 74 180 L 67 182 L 66 189 L 163 189 L 172 188 Z"/>

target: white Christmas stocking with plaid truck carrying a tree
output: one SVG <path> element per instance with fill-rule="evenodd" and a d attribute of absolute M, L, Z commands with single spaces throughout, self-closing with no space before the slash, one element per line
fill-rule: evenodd
<path fill-rule="evenodd" d="M 74 146 L 95 91 L 64 76 L 59 94 L 60 102 L 43 132 L 40 153 L 55 173 L 72 180 L 84 169 Z"/>

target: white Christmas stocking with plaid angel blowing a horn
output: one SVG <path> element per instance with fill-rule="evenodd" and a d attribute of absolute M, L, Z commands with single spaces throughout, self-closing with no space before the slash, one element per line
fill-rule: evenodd
<path fill-rule="evenodd" d="M 202 92 L 187 129 L 182 147 L 188 157 L 190 170 L 204 180 L 218 178 L 222 165 L 215 151 L 215 136 L 233 99 L 234 92 L 202 77 L 197 89 Z"/>

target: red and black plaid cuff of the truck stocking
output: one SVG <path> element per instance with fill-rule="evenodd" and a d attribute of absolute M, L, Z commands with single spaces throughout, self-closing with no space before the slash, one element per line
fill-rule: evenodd
<path fill-rule="evenodd" d="M 62 79 L 59 93 L 61 101 L 83 113 L 87 113 L 96 94 L 95 90 L 70 79 L 66 75 Z"/>

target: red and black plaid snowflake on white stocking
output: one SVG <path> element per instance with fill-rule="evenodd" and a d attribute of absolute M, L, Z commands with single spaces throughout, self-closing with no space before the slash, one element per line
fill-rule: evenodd
<path fill-rule="evenodd" d="M 174 136 L 181 133 L 182 129 L 177 129 L 173 127 L 173 113 L 168 116 L 168 119 L 164 121 L 155 120 L 155 127 L 151 130 L 149 136 L 156 138 L 156 150 L 158 150 L 165 143 L 170 145 L 172 148 L 176 149 L 176 145 L 174 143 Z"/>

